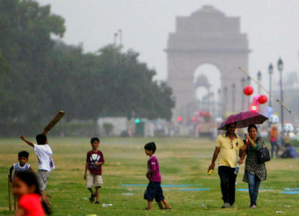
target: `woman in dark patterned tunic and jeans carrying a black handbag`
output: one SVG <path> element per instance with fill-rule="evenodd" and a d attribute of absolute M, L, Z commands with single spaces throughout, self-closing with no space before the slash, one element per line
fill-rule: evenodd
<path fill-rule="evenodd" d="M 259 163 L 257 161 L 257 151 L 265 147 L 265 143 L 261 137 L 256 137 L 257 128 L 256 125 L 248 126 L 248 134 L 245 134 L 245 138 L 248 141 L 244 141 L 247 144 L 246 149 L 246 162 L 245 173 L 243 181 L 248 183 L 250 192 L 250 208 L 256 208 L 256 199 L 259 194 L 259 184 L 262 180 L 266 180 L 267 171 L 265 163 Z"/>

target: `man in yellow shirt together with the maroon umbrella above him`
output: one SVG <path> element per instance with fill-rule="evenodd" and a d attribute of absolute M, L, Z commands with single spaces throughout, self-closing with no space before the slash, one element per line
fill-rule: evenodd
<path fill-rule="evenodd" d="M 214 169 L 215 161 L 218 160 L 218 174 L 221 180 L 221 192 L 224 206 L 222 208 L 233 207 L 235 202 L 235 185 L 237 164 L 242 164 L 245 154 L 241 153 L 238 160 L 239 151 L 245 151 L 246 146 L 243 140 L 235 133 L 236 128 L 245 128 L 250 124 L 261 124 L 268 118 L 255 111 L 244 111 L 236 115 L 231 115 L 224 121 L 218 130 L 225 130 L 218 135 L 212 163 L 208 170 Z"/>

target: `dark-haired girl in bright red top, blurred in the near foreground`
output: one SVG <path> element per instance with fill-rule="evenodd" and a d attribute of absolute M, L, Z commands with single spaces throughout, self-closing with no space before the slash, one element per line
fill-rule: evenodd
<path fill-rule="evenodd" d="M 38 180 L 33 173 L 17 173 L 13 179 L 13 194 L 18 206 L 15 216 L 45 216 L 50 210 L 42 201 Z"/>

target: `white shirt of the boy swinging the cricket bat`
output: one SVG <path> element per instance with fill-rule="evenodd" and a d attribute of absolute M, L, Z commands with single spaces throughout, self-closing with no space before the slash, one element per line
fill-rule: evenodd
<path fill-rule="evenodd" d="M 38 155 L 38 169 L 43 169 L 46 171 L 55 169 L 54 161 L 51 157 L 53 152 L 48 144 L 34 144 L 34 151 L 36 151 L 36 155 Z"/>

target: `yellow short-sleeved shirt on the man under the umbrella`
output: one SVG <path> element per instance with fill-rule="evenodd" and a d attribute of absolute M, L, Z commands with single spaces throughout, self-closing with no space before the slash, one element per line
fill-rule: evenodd
<path fill-rule="evenodd" d="M 218 135 L 216 146 L 220 148 L 218 155 L 218 166 L 236 168 L 240 148 L 244 146 L 243 140 L 235 134 L 235 139 L 227 137 L 227 133 Z"/>

